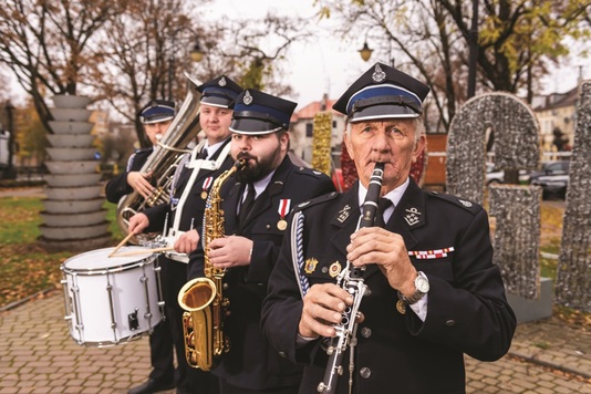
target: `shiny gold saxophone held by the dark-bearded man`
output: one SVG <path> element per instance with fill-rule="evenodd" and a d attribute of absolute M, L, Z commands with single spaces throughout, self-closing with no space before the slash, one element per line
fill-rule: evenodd
<path fill-rule="evenodd" d="M 187 363 L 203 371 L 210 371 L 221 355 L 230 349 L 230 341 L 224 334 L 224 317 L 229 307 L 222 294 L 225 269 L 214 268 L 209 262 L 209 242 L 224 237 L 224 210 L 219 190 L 221 185 L 237 170 L 243 168 L 245 159 L 221 174 L 211 185 L 204 212 L 203 247 L 205 277 L 196 278 L 183 286 L 178 292 L 178 304 L 183 313 L 183 338 Z"/>

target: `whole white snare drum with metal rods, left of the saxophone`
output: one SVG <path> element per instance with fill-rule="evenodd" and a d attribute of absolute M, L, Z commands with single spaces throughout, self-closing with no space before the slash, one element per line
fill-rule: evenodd
<path fill-rule="evenodd" d="M 81 345 L 111 346 L 149 334 L 164 318 L 160 268 L 143 247 L 74 256 L 61 266 L 65 320 Z M 120 253 L 134 256 L 117 257 Z"/>

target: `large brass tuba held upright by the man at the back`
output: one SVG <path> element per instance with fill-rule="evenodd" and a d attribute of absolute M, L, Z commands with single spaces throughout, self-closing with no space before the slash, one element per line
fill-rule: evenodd
<path fill-rule="evenodd" d="M 187 77 L 187 95 L 178 114 L 158 142 L 152 155 L 139 170 L 142 174 L 152 172 L 152 194 L 144 198 L 133 191 L 123 197 L 117 205 L 117 225 L 124 234 L 128 232 L 129 218 L 145 208 L 159 204 L 168 204 L 168 190 L 174 180 L 176 168 L 188 151 L 185 147 L 201 131 L 199 125 L 199 100 L 201 93 L 197 87 L 201 84 L 185 73 Z"/>

